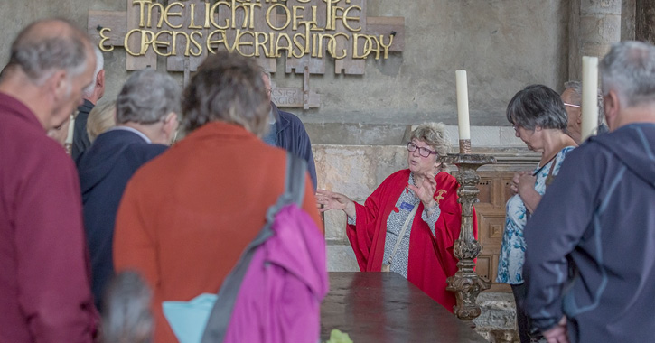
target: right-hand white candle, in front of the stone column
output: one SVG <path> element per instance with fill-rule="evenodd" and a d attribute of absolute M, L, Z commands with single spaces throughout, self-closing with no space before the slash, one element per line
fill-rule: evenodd
<path fill-rule="evenodd" d="M 598 58 L 582 58 L 582 140 L 598 127 Z"/>

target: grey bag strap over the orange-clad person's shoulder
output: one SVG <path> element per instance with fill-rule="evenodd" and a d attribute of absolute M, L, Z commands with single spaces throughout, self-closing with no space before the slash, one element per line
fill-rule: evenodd
<path fill-rule="evenodd" d="M 220 286 L 219 296 L 211 309 L 210 318 L 207 320 L 207 326 L 202 334 L 201 343 L 217 343 L 225 339 L 228 331 L 229 320 L 232 316 L 234 304 L 237 301 L 237 295 L 241 288 L 243 278 L 248 272 L 250 261 L 266 240 L 273 236 L 272 225 L 276 218 L 277 212 L 286 205 L 295 202 L 302 206 L 304 198 L 304 173 L 307 169 L 307 162 L 291 153 L 286 153 L 286 171 L 285 171 L 285 192 L 280 195 L 276 203 L 267 210 L 267 223 L 259 231 L 255 239 L 246 246 L 241 254 L 239 262 L 229 272 Z"/>

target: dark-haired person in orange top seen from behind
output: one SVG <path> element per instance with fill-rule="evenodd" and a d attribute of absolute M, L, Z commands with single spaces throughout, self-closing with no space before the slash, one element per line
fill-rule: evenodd
<path fill-rule="evenodd" d="M 216 293 L 284 192 L 286 152 L 265 144 L 269 103 L 255 60 L 219 52 L 185 90 L 181 142 L 128 183 L 114 262 L 153 289 L 154 341 L 176 342 L 162 301 Z M 323 227 L 305 174 L 303 209 Z"/>

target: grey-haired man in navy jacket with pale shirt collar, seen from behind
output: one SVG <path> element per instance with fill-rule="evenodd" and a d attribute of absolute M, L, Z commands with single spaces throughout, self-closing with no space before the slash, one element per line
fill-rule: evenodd
<path fill-rule="evenodd" d="M 180 87 L 168 74 L 136 71 L 118 94 L 117 126 L 100 134 L 77 162 L 98 309 L 114 275 L 114 223 L 123 191 L 141 165 L 172 143 L 180 100 Z"/>

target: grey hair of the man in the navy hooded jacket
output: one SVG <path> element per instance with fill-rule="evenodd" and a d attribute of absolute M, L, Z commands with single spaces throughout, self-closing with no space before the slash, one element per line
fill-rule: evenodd
<path fill-rule="evenodd" d="M 646 42 L 613 44 L 599 65 L 603 94 L 616 92 L 622 107 L 655 103 L 655 46 Z"/>

